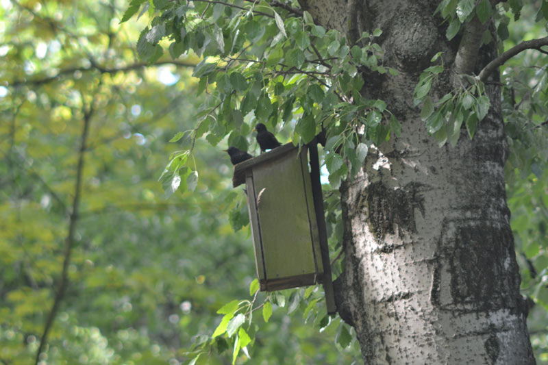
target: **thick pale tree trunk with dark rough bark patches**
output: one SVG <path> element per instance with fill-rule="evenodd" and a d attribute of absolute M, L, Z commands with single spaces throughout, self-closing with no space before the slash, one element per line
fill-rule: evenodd
<path fill-rule="evenodd" d="M 454 148 L 427 134 L 412 97 L 438 51 L 445 71 L 434 97 L 451 91 L 460 64 L 481 70 L 495 42 L 470 60 L 477 49 L 459 36 L 447 40 L 447 23 L 433 15 L 438 1 L 349 0 L 345 12 L 337 3 L 301 1 L 316 23 L 349 40 L 382 29 L 384 65 L 399 71 L 366 75 L 363 92 L 388 103 L 401 137 L 370 152 L 340 187 L 346 262 L 337 305 L 364 362 L 534 364 L 506 205 L 499 87 L 487 88 L 492 106 L 473 140 L 462 129 Z"/>

